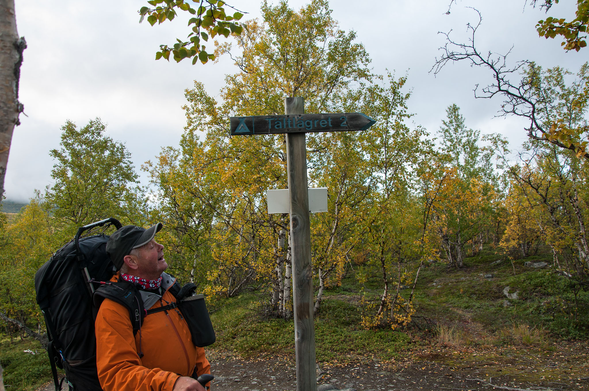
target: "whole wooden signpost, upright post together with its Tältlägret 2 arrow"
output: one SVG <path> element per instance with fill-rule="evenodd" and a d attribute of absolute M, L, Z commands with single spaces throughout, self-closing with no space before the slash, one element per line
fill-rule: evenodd
<path fill-rule="evenodd" d="M 231 117 L 231 135 L 286 133 L 293 269 L 294 350 L 297 391 L 316 391 L 313 265 L 305 133 L 362 131 L 375 124 L 360 112 L 305 114 L 301 97 L 284 98 L 284 115 Z"/>

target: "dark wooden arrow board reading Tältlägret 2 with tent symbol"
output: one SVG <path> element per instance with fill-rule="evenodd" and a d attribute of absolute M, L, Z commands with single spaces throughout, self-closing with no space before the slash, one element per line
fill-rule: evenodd
<path fill-rule="evenodd" d="M 361 112 L 231 117 L 231 135 L 366 130 L 375 120 Z"/>

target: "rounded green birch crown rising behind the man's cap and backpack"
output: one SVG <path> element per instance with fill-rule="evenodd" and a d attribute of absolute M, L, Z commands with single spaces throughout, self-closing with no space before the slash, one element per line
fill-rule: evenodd
<path fill-rule="evenodd" d="M 57 161 L 55 182 L 45 195 L 54 217 L 74 232 L 105 217 L 136 220 L 138 198 L 131 185 L 138 175 L 125 145 L 105 135 L 98 118 L 81 128 L 67 121 L 61 130 L 60 148 L 49 152 Z"/>

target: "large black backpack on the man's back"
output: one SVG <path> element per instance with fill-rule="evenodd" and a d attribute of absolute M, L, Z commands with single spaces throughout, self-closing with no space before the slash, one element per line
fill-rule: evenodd
<path fill-rule="evenodd" d="M 45 317 L 49 344 L 47 352 L 55 390 L 66 379 L 70 390 L 102 391 L 96 369 L 94 320 L 98 309 L 92 294 L 108 281 L 115 267 L 106 253 L 108 227 L 121 228 L 115 218 L 80 227 L 74 239 L 59 248 L 35 274 L 37 304 Z M 92 235 L 96 230 L 100 234 Z M 82 237 L 88 231 L 86 237 Z M 58 381 L 58 366 L 65 370 Z"/>

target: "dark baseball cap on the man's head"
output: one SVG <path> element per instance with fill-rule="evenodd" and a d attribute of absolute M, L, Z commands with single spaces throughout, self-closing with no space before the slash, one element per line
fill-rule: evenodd
<path fill-rule="evenodd" d="M 124 226 L 116 230 L 107 241 L 107 254 L 117 270 L 123 266 L 125 255 L 128 255 L 133 248 L 149 243 L 161 227 L 163 224 L 157 223 L 147 230 L 137 226 Z"/>

